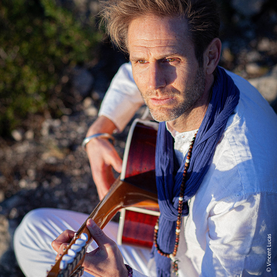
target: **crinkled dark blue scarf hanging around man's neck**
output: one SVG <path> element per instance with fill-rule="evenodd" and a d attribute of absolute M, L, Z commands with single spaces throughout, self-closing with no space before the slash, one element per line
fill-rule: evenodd
<path fill-rule="evenodd" d="M 188 215 L 187 200 L 195 195 L 207 173 L 215 153 L 215 147 L 223 135 L 226 122 L 239 102 L 239 90 L 225 70 L 217 67 L 211 101 L 197 133 L 184 192 L 183 216 Z M 178 198 L 186 156 L 177 172 L 174 170 L 174 139 L 165 122 L 159 124 L 156 145 L 156 182 L 160 208 L 158 245 L 166 253 L 172 253 L 175 245 L 175 229 L 178 215 Z M 158 277 L 169 277 L 171 259 L 161 256 L 154 249 Z M 179 249 L 178 251 L 182 251 Z"/>

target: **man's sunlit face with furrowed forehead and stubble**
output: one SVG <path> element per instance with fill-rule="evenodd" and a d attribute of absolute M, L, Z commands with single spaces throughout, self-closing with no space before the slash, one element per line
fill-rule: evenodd
<path fill-rule="evenodd" d="M 187 22 L 146 16 L 134 19 L 128 31 L 134 80 L 153 118 L 172 121 L 186 114 L 205 88 Z"/>

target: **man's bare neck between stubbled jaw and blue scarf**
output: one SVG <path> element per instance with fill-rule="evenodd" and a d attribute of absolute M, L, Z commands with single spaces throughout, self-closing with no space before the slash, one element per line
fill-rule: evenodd
<path fill-rule="evenodd" d="M 206 79 L 205 90 L 199 100 L 188 111 L 167 124 L 178 132 L 186 132 L 198 129 L 206 114 L 214 83 L 214 77 Z"/>

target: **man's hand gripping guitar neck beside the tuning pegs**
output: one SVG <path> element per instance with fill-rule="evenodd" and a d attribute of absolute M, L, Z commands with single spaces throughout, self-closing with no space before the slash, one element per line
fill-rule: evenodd
<path fill-rule="evenodd" d="M 107 237 L 104 232 L 89 219 L 86 223 L 92 238 L 98 245 L 94 251 L 87 253 L 82 264 L 85 271 L 96 277 L 125 277 L 128 276 L 121 252 L 116 243 Z M 74 231 L 66 230 L 52 242 L 52 247 L 59 254 L 67 246 L 69 239 L 74 237 Z"/>

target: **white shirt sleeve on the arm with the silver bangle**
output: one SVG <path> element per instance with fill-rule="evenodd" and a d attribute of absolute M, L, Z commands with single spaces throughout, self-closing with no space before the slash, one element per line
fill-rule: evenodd
<path fill-rule="evenodd" d="M 98 115 L 109 118 L 121 132 L 143 104 L 134 82 L 131 63 L 124 63 L 112 79 Z"/>

